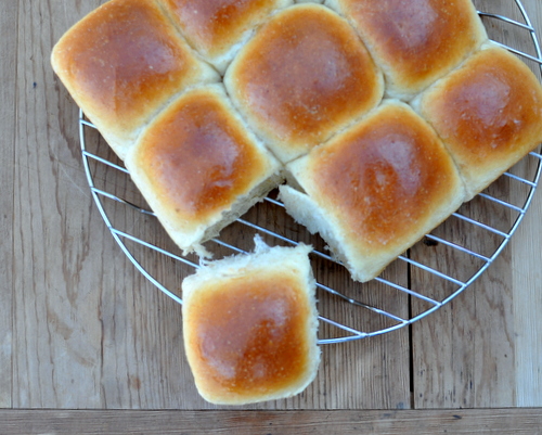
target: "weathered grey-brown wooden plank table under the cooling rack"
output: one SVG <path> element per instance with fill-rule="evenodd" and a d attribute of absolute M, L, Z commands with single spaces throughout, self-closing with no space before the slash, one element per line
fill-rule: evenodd
<path fill-rule="evenodd" d="M 203 401 L 181 307 L 102 221 L 78 110 L 50 67 L 53 43 L 103 2 L 2 2 L 0 433 L 541 433 L 540 189 L 504 253 L 451 304 L 410 329 L 325 346 L 295 398 Z M 512 1 L 476 4 L 495 3 Z M 524 3 L 542 34 L 542 3 Z"/>

